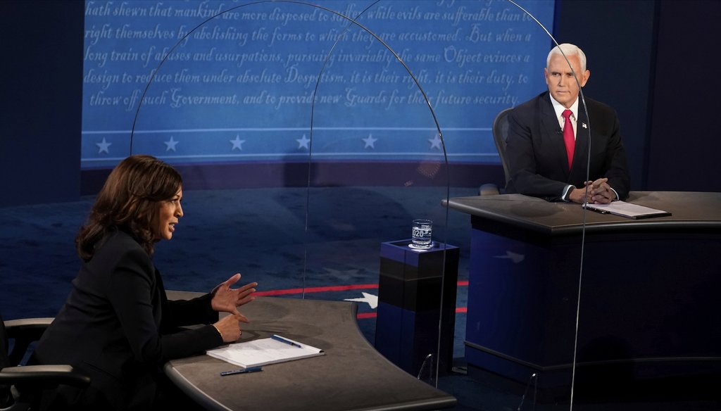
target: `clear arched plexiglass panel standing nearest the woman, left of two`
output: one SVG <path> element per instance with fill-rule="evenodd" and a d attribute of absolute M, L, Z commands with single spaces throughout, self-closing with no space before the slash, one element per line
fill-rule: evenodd
<path fill-rule="evenodd" d="M 295 1 L 236 6 L 183 33 L 138 98 L 131 139 L 133 153 L 156 154 L 185 177 L 187 234 L 165 252 L 190 247 L 182 259 L 204 260 L 203 270 L 262 275 L 247 278 L 261 283 L 259 295 L 358 301 L 368 340 L 435 381 L 438 364 L 450 368 L 453 358 L 453 329 L 441 344 L 438 328 L 441 317 L 454 320 L 458 247 L 452 301 L 441 309 L 445 148 L 407 66 L 340 12 Z M 192 211 L 205 207 L 213 218 L 195 224 Z M 415 218 L 433 221 L 435 246 L 410 247 Z M 190 255 L 190 242 L 206 241 L 217 244 L 213 258 Z M 419 261 L 405 264 L 398 252 Z M 267 257 L 261 265 L 247 254 Z M 165 262 L 173 260 L 181 258 Z M 405 358 L 397 330 L 409 325 L 423 344 Z"/>

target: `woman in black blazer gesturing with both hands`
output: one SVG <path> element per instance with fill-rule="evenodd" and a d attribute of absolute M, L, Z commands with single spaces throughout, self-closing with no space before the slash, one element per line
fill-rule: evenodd
<path fill-rule="evenodd" d="M 64 389 L 43 398 L 49 409 L 147 410 L 163 399 L 159 366 L 239 338 L 248 320 L 237 306 L 257 283 L 232 289 L 240 274 L 190 301 L 168 301 L 151 257 L 182 217 L 182 180 L 151 156 L 118 164 L 76 237 L 83 264 L 34 362 L 66 363 L 92 379 L 79 396 Z M 218 320 L 218 311 L 231 315 Z M 182 325 L 206 324 L 193 330 Z"/>

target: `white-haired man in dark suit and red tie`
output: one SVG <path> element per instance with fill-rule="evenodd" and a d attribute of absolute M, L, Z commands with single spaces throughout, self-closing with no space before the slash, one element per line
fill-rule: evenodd
<path fill-rule="evenodd" d="M 553 48 L 544 74 L 548 92 L 508 115 L 506 193 L 574 203 L 624 200 L 630 183 L 616 112 L 590 99 L 584 107 L 578 98 L 579 84 L 590 76 L 583 51 L 567 43 Z"/>

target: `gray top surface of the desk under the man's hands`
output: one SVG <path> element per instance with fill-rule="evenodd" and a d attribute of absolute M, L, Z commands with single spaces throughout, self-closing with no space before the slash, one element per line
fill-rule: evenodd
<path fill-rule="evenodd" d="M 549 202 L 521 194 L 451 198 L 444 205 L 474 218 L 509 224 L 540 234 L 580 234 L 632 229 L 721 229 L 721 193 L 634 191 L 627 202 L 671 212 L 671 216 L 634 220 L 584 211 L 579 204 Z"/>

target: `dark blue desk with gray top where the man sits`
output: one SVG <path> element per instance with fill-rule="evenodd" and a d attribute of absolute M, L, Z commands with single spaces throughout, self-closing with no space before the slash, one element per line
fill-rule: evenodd
<path fill-rule="evenodd" d="M 518 194 L 443 202 L 472 222 L 469 373 L 536 374 L 539 386 L 569 382 L 574 361 L 587 374 L 612 368 L 609 381 L 721 373 L 721 193 L 627 202 L 671 216 Z"/>

